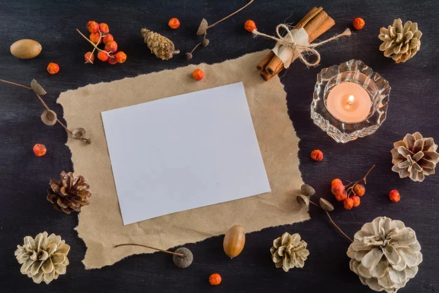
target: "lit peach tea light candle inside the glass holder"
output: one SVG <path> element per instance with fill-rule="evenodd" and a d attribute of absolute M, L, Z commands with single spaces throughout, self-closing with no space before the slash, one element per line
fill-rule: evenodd
<path fill-rule="evenodd" d="M 367 118 L 372 101 L 359 84 L 345 82 L 334 86 L 328 94 L 326 108 L 337 119 L 356 123 Z"/>

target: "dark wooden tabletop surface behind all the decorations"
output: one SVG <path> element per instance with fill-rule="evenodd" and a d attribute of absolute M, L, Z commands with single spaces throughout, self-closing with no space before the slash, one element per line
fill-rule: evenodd
<path fill-rule="evenodd" d="M 421 3 L 422 2 L 422 3 Z M 245 3 L 242 1 L 6 1 L 0 0 L 0 78 L 20 84 L 36 79 L 48 91 L 46 103 L 62 117 L 56 104 L 60 92 L 98 82 L 177 68 L 188 62 L 184 52 L 198 42 L 195 31 L 202 18 L 217 21 Z M 247 19 L 256 21 L 261 32 L 272 34 L 278 23 L 297 22 L 312 6 L 323 6 L 337 22 L 321 37 L 342 32 L 355 17 L 366 21 L 364 29 L 350 39 L 319 47 L 322 57 L 317 68 L 307 69 L 294 63 L 281 80 L 288 93 L 289 114 L 300 138 L 300 171 L 304 182 L 336 205 L 334 220 L 349 235 L 377 216 L 402 220 L 417 233 L 423 262 L 418 275 L 401 292 L 438 292 L 439 290 L 439 175 L 428 176 L 423 183 L 399 179 L 391 171 L 390 150 L 406 133 L 421 132 L 439 142 L 437 123 L 439 29 L 436 0 L 398 2 L 388 0 L 350 1 L 271 1 L 256 0 L 244 11 L 209 30 L 210 44 L 194 53 L 190 63 L 217 63 L 245 53 L 273 46 L 264 38 L 252 38 L 243 29 Z M 171 30 L 170 18 L 181 26 Z M 420 52 L 406 63 L 395 64 L 379 51 L 379 28 L 395 18 L 417 21 L 423 36 Z M 83 63 L 83 54 L 91 46 L 75 31 L 86 32 L 89 20 L 106 22 L 110 32 L 128 59 L 124 64 L 109 65 L 97 61 Z M 149 53 L 140 37 L 146 27 L 173 40 L 182 52 L 170 61 L 161 61 Z M 42 53 L 32 60 L 19 60 L 9 46 L 20 39 L 41 43 Z M 310 118 L 310 103 L 321 68 L 350 59 L 360 59 L 386 78 L 391 87 L 388 117 L 371 136 L 348 144 L 337 144 L 315 126 Z M 49 62 L 60 64 L 60 72 L 50 76 Z M 154 90 L 154 84 L 150 85 Z M 147 94 L 147 93 L 145 93 Z M 222 251 L 222 237 L 214 237 L 191 249 L 195 261 L 180 270 L 164 253 L 134 255 L 100 270 L 84 270 L 81 260 L 85 245 L 74 228 L 76 214 L 66 215 L 46 200 L 49 179 L 62 170 L 72 171 L 71 153 L 65 142 L 67 133 L 60 126 L 45 126 L 40 121 L 43 107 L 31 92 L 0 84 L 0 283 L 1 292 L 370 292 L 357 275 L 349 270 L 346 251 L 349 242 L 329 224 L 320 209 L 311 207 L 311 220 L 264 229 L 246 235 L 244 251 L 230 260 Z M 62 119 L 62 118 L 61 118 Z M 47 154 L 36 157 L 32 147 L 47 146 Z M 324 152 L 320 163 L 309 154 L 319 148 Z M 373 164 L 367 193 L 359 208 L 344 210 L 329 191 L 332 179 L 361 178 Z M 96 170 L 99 172 L 99 170 Z M 401 201 L 390 202 L 389 190 L 397 188 Z M 71 246 L 67 273 L 49 285 L 35 284 L 20 273 L 14 257 L 26 235 L 42 231 L 56 233 Z M 288 273 L 276 269 L 271 261 L 273 239 L 284 231 L 300 233 L 308 243 L 310 256 L 303 269 Z M 222 276 L 220 286 L 208 283 L 211 273 Z"/>

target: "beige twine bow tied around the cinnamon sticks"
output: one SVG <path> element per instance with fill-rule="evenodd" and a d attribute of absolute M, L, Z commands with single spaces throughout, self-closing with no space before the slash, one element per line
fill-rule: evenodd
<path fill-rule="evenodd" d="M 280 28 L 284 28 L 287 31 L 287 35 L 285 37 L 283 37 L 280 34 L 280 32 L 279 32 Z M 344 32 L 342 32 L 341 34 L 336 35 L 332 38 L 329 38 L 323 42 L 317 42 L 317 43 L 306 44 L 306 45 L 296 43 L 294 41 L 294 38 L 293 38 L 293 35 L 291 34 L 290 29 L 285 24 L 279 24 L 276 27 L 276 33 L 278 34 L 278 38 L 276 38 L 274 36 L 269 36 L 269 35 L 266 35 L 263 33 L 259 33 L 256 29 L 253 30 L 253 34 L 255 36 L 266 37 L 266 38 L 275 40 L 281 46 L 289 47 L 293 52 L 293 58 L 292 58 L 291 62 L 293 62 L 295 59 L 299 58 L 303 63 L 305 63 L 306 66 L 317 66 L 320 63 L 320 54 L 315 49 L 315 47 L 318 47 L 318 46 L 320 46 L 324 43 L 327 43 L 327 42 L 334 41 L 335 39 L 338 39 L 339 37 L 350 36 L 351 30 L 349 28 L 346 28 L 346 30 Z M 309 55 L 316 55 L 317 60 L 315 62 L 308 62 L 308 60 L 306 60 L 306 58 L 304 57 L 304 53 L 308 53 Z"/>

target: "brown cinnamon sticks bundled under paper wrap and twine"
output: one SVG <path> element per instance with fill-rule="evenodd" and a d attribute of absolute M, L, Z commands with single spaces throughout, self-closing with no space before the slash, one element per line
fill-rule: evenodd
<path fill-rule="evenodd" d="M 304 28 L 308 34 L 308 42 L 311 43 L 332 26 L 335 21 L 323 11 L 322 7 L 313 7 L 294 27 L 295 29 Z M 278 56 L 270 51 L 258 65 L 260 76 L 265 81 L 268 81 L 273 76 L 278 74 L 283 68 L 283 62 Z"/>

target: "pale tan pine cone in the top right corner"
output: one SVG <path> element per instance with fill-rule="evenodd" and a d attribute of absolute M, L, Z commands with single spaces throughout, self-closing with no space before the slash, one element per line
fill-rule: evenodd
<path fill-rule="evenodd" d="M 406 62 L 419 51 L 421 31 L 418 23 L 407 21 L 402 26 L 401 19 L 393 21 L 393 26 L 379 29 L 379 40 L 383 43 L 379 46 L 384 51 L 384 56 L 392 58 L 396 63 Z"/>

